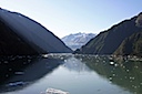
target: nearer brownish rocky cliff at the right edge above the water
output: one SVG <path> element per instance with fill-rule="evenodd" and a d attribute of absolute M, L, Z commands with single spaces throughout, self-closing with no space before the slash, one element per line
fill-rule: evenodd
<path fill-rule="evenodd" d="M 119 49 L 114 52 L 115 55 L 142 55 L 142 31 L 126 38 Z"/>

